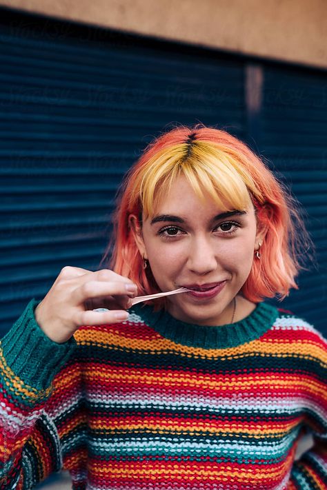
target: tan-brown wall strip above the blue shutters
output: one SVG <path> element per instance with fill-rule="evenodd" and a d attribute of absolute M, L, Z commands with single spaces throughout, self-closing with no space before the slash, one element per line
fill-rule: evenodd
<path fill-rule="evenodd" d="M 0 0 L 0 5 L 327 68 L 327 0 Z"/>

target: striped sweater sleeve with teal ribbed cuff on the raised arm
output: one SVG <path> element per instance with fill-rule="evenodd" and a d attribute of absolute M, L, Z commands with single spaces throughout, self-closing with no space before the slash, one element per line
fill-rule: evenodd
<path fill-rule="evenodd" d="M 61 441 L 48 403 L 54 378 L 76 340 L 50 340 L 35 320 L 38 304 L 30 300 L 0 343 L 1 489 L 31 489 L 62 468 Z"/>

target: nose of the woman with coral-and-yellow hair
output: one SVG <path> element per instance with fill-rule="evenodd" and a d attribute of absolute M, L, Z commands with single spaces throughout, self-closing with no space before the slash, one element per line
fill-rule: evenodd
<path fill-rule="evenodd" d="M 215 248 L 210 238 L 197 238 L 192 241 L 188 253 L 188 269 L 199 275 L 208 274 L 217 268 Z"/>

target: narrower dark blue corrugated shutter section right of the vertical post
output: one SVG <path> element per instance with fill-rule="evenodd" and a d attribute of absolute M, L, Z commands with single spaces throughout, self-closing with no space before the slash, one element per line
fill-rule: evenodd
<path fill-rule="evenodd" d="M 327 76 L 286 66 L 264 68 L 261 154 L 304 207 L 317 264 L 301 272 L 299 291 L 282 307 L 300 312 L 327 333 Z"/>

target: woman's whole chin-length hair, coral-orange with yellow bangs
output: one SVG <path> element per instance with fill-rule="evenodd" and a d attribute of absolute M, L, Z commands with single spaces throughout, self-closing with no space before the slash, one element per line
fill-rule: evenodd
<path fill-rule="evenodd" d="M 153 214 L 156 203 L 181 174 L 199 196 L 206 190 L 224 210 L 226 202 L 229 210 L 244 209 L 251 199 L 257 223 L 268 224 L 260 247 L 261 260 L 253 261 L 241 288 L 245 298 L 258 303 L 279 295 L 281 301 L 291 287 L 299 289 L 295 276 L 301 269 L 308 270 L 299 258 L 308 258 L 314 245 L 297 210 L 297 201 L 245 143 L 201 123 L 179 125 L 161 134 L 131 167 L 121 186 L 113 218 L 114 234 L 101 264 L 112 254 L 109 268 L 130 278 L 139 294 L 159 292 L 150 267 L 143 269 L 128 217 L 135 214 L 141 221 L 142 212 L 145 216 Z M 162 301 L 159 307 L 164 304 Z"/>

